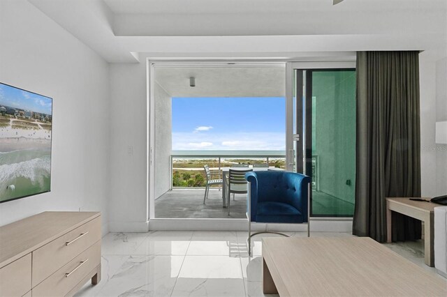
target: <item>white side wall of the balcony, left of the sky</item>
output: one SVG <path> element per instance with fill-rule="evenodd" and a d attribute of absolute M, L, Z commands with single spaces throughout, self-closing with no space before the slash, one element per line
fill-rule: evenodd
<path fill-rule="evenodd" d="M 170 189 L 170 153 L 173 148 L 173 109 L 170 95 L 157 83 L 155 105 L 155 199 Z"/>

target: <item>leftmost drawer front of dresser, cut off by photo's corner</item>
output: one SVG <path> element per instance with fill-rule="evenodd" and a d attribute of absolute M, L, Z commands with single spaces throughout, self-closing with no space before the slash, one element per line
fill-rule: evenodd
<path fill-rule="evenodd" d="M 22 296 L 31 290 L 31 253 L 0 268 L 0 296 Z"/>

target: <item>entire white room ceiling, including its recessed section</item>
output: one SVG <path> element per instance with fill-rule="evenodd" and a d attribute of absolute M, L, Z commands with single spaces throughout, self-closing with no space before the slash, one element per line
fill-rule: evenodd
<path fill-rule="evenodd" d="M 445 0 L 29 0 L 111 63 L 156 57 L 278 57 L 436 50 Z M 307 55 L 307 54 L 306 54 Z"/>

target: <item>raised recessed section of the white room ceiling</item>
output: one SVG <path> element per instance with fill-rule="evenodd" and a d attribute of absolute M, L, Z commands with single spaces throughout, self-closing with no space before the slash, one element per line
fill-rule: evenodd
<path fill-rule="evenodd" d="M 434 9 L 437 0 L 346 0 L 337 6 L 331 0 L 104 1 L 115 15 L 116 36 L 416 33 L 430 26 L 425 21 L 442 17 Z"/>

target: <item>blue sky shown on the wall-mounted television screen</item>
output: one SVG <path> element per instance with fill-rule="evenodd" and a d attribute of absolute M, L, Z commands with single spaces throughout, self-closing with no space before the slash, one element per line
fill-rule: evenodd
<path fill-rule="evenodd" d="M 52 100 L 45 96 L 16 89 L 13 86 L 7 86 L 0 83 L 0 105 L 16 107 L 30 110 L 31 112 L 40 112 L 43 114 L 52 113 Z"/>

